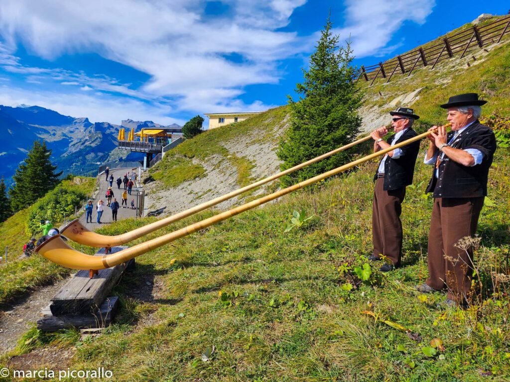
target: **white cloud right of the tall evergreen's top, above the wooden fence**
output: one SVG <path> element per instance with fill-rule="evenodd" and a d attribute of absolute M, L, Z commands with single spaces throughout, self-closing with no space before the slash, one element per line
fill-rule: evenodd
<path fill-rule="evenodd" d="M 387 47 L 394 33 L 406 21 L 423 24 L 436 5 L 435 0 L 346 0 L 343 28 L 334 33 L 351 36 L 356 58 L 390 53 L 401 44 Z"/>

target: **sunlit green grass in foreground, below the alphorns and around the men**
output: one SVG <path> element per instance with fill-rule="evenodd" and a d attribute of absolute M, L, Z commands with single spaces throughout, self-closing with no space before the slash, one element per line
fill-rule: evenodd
<path fill-rule="evenodd" d="M 497 151 L 489 188 L 494 205 L 484 207 L 478 229 L 478 267 L 489 278 L 496 267 L 510 271 L 504 263 L 510 251 L 508 154 Z M 371 251 L 375 167 L 367 163 L 140 256 L 115 289 L 122 297 L 117 322 L 103 336 L 74 343 L 72 367 L 104 366 L 119 381 L 475 381 L 489 371 L 504 380 L 510 373 L 508 284 L 466 311 L 436 308 L 444 295 L 423 299 L 414 290 L 427 275 L 431 211 L 423 195 L 430 168 L 420 161 L 403 207 L 404 267 L 390 274 L 373 268 L 366 283 L 339 271 L 363 265 Z M 294 209 L 317 218 L 284 234 Z M 126 220 L 100 232 L 117 234 L 151 221 Z M 133 294 L 147 278 L 159 285 L 150 302 Z M 418 333 L 421 342 L 375 322 L 363 314 L 367 310 Z M 427 357 L 423 348 L 435 338 L 444 350 Z M 211 361 L 201 361 L 212 346 Z"/>

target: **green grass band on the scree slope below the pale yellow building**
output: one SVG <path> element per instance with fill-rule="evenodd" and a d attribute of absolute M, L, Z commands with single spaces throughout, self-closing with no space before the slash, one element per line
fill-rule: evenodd
<path fill-rule="evenodd" d="M 220 160 L 227 159 L 236 169 L 240 187 L 250 184 L 253 180 L 250 176 L 252 161 L 229 152 L 225 146 L 245 136 L 250 142 L 275 141 L 278 128 L 282 128 L 286 116 L 286 106 L 276 107 L 245 121 L 207 130 L 170 150 L 157 166 L 149 170 L 149 174 L 160 181 L 163 187 L 175 187 L 205 176 L 206 169 L 196 161 L 203 163 L 215 155 Z M 195 159 L 195 163 L 191 159 Z"/>

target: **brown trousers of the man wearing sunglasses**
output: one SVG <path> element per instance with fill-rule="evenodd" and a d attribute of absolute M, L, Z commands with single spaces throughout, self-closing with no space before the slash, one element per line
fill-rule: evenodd
<path fill-rule="evenodd" d="M 402 257 L 401 204 L 405 198 L 405 187 L 391 191 L 382 189 L 384 178 L 375 181 L 372 203 L 372 241 L 374 256 L 384 255 L 395 266 Z"/>

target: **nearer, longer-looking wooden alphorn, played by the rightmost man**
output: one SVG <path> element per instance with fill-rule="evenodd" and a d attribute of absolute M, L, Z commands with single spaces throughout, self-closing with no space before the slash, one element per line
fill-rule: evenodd
<path fill-rule="evenodd" d="M 207 228 L 209 226 L 212 226 L 213 224 L 222 222 L 222 221 L 228 219 L 229 217 L 238 215 L 241 212 L 258 207 L 264 203 L 270 202 L 271 200 L 274 200 L 281 196 L 290 194 L 293 191 L 301 189 L 301 188 L 308 186 L 310 184 L 319 182 L 319 181 L 326 179 L 330 176 L 340 174 L 340 173 L 344 172 L 345 170 L 351 169 L 354 166 L 361 165 L 361 163 L 364 163 L 364 162 L 366 162 L 370 159 L 373 159 L 377 156 L 384 155 L 384 154 L 386 154 L 390 151 L 393 151 L 399 147 L 403 147 L 405 145 L 409 145 L 410 143 L 419 141 L 422 138 L 425 138 L 428 135 L 430 135 L 431 132 L 432 131 L 424 132 L 423 134 L 419 134 L 416 137 L 408 139 L 404 142 L 397 143 L 396 145 L 394 145 L 392 147 L 377 151 L 373 154 L 364 156 L 363 158 L 354 160 L 350 163 L 347 163 L 347 165 L 337 167 L 334 170 L 330 170 L 323 174 L 314 176 L 313 178 L 304 180 L 300 183 L 294 184 L 290 187 L 284 188 L 282 190 L 279 190 L 275 193 L 272 193 L 272 194 L 262 197 L 260 199 L 253 200 L 253 201 L 243 204 L 239 207 L 235 207 L 228 211 L 219 213 L 215 216 L 211 216 L 208 219 L 202 220 L 198 223 L 181 228 L 180 230 L 173 231 L 171 233 L 157 237 L 155 239 L 145 241 L 143 243 L 134 245 L 133 247 L 130 247 L 130 248 L 126 248 L 125 250 L 116 252 L 114 254 L 109 254 L 109 255 L 105 255 L 105 256 L 86 255 L 80 251 L 77 251 L 77 250 L 71 248 L 62 239 L 61 235 L 55 235 L 53 237 L 50 237 L 48 240 L 46 240 L 41 245 L 39 245 L 39 247 L 37 247 L 35 251 L 37 253 L 39 253 L 40 255 L 42 255 L 43 257 L 45 257 L 46 259 L 48 259 L 49 261 L 52 261 L 56 264 L 65 266 L 67 268 L 90 270 L 91 276 L 92 276 L 93 271 L 95 271 L 95 270 L 105 269 L 105 268 L 109 268 L 109 267 L 112 267 L 115 265 L 122 264 L 123 262 L 126 262 L 130 259 L 137 257 L 137 256 L 143 255 L 144 253 L 154 250 L 158 247 L 161 247 L 161 245 L 168 244 L 174 240 L 177 240 L 181 237 L 187 236 L 193 232 Z"/>

